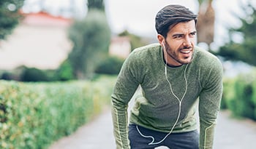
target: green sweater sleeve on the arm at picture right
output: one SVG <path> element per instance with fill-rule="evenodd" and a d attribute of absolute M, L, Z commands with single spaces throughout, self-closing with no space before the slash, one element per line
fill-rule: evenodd
<path fill-rule="evenodd" d="M 200 93 L 200 149 L 213 148 L 214 128 L 217 124 L 220 102 L 222 98 L 222 64 L 219 60 L 211 63 L 207 70 L 203 91 Z"/>

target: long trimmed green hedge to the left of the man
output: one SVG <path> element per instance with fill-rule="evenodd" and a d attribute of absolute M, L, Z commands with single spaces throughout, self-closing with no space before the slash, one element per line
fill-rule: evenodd
<path fill-rule="evenodd" d="M 0 81 L 0 148 L 48 148 L 110 104 L 116 77 L 66 83 Z"/>

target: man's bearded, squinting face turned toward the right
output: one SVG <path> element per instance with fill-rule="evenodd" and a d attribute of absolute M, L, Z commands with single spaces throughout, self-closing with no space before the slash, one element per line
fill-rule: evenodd
<path fill-rule="evenodd" d="M 178 23 L 170 28 L 165 44 L 165 61 L 168 65 L 178 66 L 190 63 L 195 45 L 195 21 Z M 166 60 L 167 59 L 167 60 Z"/>

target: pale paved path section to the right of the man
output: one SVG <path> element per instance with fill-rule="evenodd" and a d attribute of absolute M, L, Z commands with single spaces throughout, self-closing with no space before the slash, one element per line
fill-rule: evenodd
<path fill-rule="evenodd" d="M 214 140 L 214 149 L 256 149 L 256 122 L 230 118 L 222 111 Z"/>

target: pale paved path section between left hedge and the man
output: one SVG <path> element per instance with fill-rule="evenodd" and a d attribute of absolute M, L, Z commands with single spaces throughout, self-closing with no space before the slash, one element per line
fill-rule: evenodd
<path fill-rule="evenodd" d="M 115 149 L 112 131 L 111 113 L 106 110 L 74 134 L 53 143 L 49 149 Z"/>

